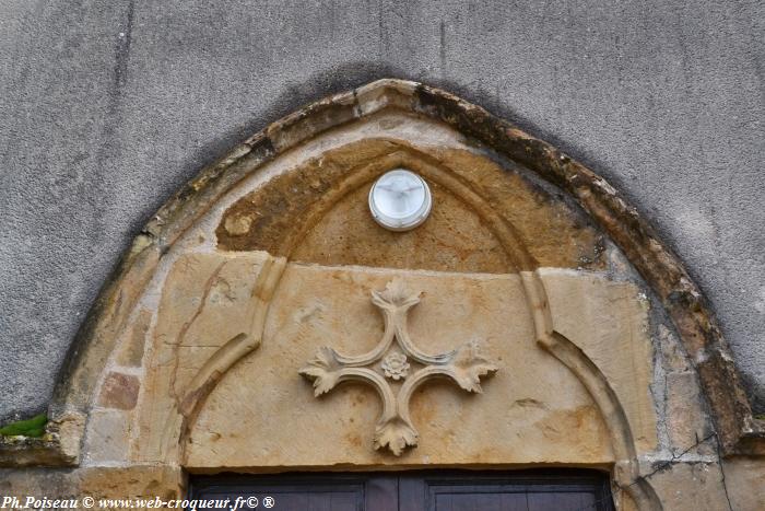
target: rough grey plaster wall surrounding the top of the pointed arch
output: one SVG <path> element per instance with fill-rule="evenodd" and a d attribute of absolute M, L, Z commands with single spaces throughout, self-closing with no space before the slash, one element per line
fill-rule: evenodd
<path fill-rule="evenodd" d="M 660 230 L 765 409 L 762 1 L 0 0 L 0 419 L 40 409 L 129 240 L 302 104 L 440 85 Z"/>

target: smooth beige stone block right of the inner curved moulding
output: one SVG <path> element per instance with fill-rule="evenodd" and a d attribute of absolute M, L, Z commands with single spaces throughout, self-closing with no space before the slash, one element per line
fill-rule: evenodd
<path fill-rule="evenodd" d="M 553 326 L 605 375 L 627 416 L 638 452 L 657 445 L 650 394 L 654 348 L 648 301 L 629 282 L 602 275 L 543 268 Z"/>

